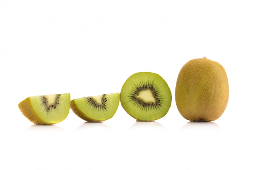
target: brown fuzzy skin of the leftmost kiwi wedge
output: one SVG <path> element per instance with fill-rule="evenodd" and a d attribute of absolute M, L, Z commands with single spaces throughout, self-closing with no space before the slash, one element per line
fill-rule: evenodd
<path fill-rule="evenodd" d="M 47 123 L 43 121 L 35 112 L 34 108 L 31 105 L 30 98 L 27 97 L 25 100 L 20 102 L 18 104 L 18 107 L 22 114 L 27 117 L 31 122 L 34 124 L 39 124 L 39 125 L 52 125 L 52 123 Z"/>

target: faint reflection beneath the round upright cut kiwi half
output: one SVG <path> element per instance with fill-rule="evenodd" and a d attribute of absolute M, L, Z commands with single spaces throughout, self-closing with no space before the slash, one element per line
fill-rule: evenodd
<path fill-rule="evenodd" d="M 164 126 L 156 121 L 139 121 L 130 126 L 128 130 L 165 130 Z"/>

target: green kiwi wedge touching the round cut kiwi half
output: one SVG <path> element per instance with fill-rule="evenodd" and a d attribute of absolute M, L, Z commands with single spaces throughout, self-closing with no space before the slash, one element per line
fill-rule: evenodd
<path fill-rule="evenodd" d="M 119 93 L 110 93 L 73 99 L 70 107 L 81 119 L 99 122 L 115 115 L 119 101 Z"/>

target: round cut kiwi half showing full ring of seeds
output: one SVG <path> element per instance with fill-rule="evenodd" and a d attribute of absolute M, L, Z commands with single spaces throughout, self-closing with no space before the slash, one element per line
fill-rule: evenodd
<path fill-rule="evenodd" d="M 139 72 L 124 83 L 120 102 L 124 110 L 140 121 L 153 121 L 164 117 L 171 107 L 171 90 L 158 74 Z"/>

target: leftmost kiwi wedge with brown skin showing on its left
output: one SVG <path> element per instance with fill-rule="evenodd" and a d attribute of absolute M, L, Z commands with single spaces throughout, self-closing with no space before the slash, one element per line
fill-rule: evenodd
<path fill-rule="evenodd" d="M 63 121 L 70 111 L 70 93 L 27 97 L 18 106 L 34 124 L 56 124 Z"/>

